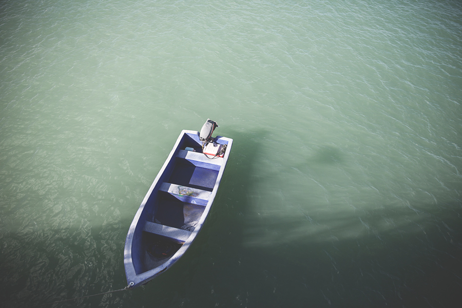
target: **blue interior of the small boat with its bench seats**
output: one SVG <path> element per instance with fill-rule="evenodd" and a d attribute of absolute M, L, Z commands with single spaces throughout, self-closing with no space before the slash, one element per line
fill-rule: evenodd
<path fill-rule="evenodd" d="M 215 139 L 227 144 L 227 141 Z M 223 158 L 205 156 L 199 136 L 185 133 L 148 198 L 143 215 L 138 274 L 170 259 L 198 225 Z"/>

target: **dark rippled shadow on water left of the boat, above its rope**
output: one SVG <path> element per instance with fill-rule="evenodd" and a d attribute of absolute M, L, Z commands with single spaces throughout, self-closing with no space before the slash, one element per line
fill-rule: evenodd
<path fill-rule="evenodd" d="M 120 260 L 125 236 L 120 229 L 120 223 L 108 223 L 4 234 L 8 245 L 2 247 L 0 264 L 2 306 L 30 307 L 124 287 Z M 97 296 L 60 306 L 107 306 L 115 299 Z"/>

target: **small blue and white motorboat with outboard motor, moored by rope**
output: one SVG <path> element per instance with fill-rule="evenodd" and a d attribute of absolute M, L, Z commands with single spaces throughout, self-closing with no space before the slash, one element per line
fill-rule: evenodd
<path fill-rule="evenodd" d="M 128 288 L 144 285 L 177 262 L 199 234 L 217 194 L 233 139 L 211 137 L 217 123 L 183 130 L 128 230 Z"/>

